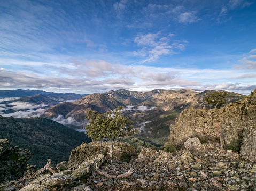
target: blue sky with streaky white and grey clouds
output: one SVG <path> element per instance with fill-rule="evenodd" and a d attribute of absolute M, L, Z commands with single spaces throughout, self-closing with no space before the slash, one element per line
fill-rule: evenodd
<path fill-rule="evenodd" d="M 0 90 L 256 89 L 254 0 L 0 2 Z"/>

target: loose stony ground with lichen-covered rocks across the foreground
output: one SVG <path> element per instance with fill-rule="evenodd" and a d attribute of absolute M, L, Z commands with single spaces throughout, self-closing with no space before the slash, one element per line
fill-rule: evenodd
<path fill-rule="evenodd" d="M 57 175 L 37 171 L 0 185 L 0 190 L 256 190 L 255 159 L 229 150 L 167 153 L 143 148 L 127 162 L 115 159 L 111 164 L 108 156 L 97 154 L 80 164 L 69 163 L 66 169 Z M 114 179 L 97 171 L 132 173 Z"/>

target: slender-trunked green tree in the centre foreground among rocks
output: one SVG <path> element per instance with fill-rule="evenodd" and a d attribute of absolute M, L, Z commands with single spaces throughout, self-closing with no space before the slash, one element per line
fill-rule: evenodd
<path fill-rule="evenodd" d="M 89 110 L 87 112 L 86 119 L 89 120 L 89 124 L 86 126 L 86 134 L 91 137 L 92 140 L 109 139 L 111 142 L 110 147 L 110 159 L 113 163 L 113 142 L 118 137 L 125 137 L 138 132 L 138 129 L 134 129 L 131 121 L 128 117 L 122 114 L 123 107 L 119 106 L 112 111 L 108 111 L 105 114 L 99 114 L 96 111 Z"/>

